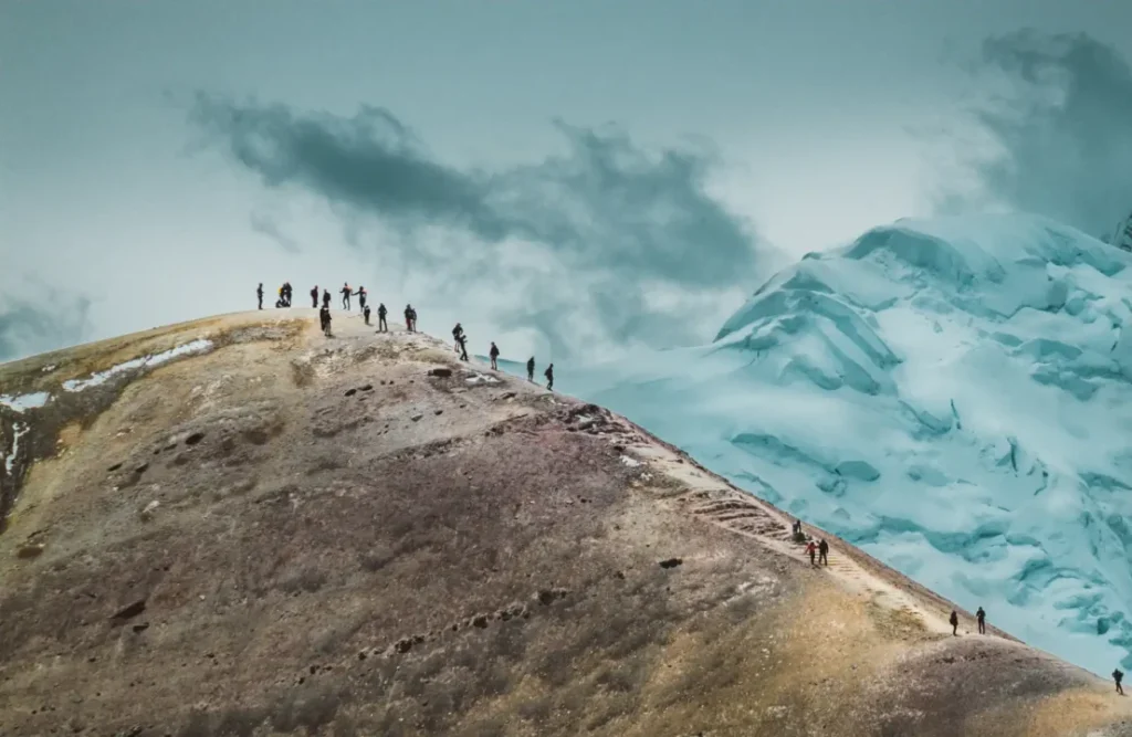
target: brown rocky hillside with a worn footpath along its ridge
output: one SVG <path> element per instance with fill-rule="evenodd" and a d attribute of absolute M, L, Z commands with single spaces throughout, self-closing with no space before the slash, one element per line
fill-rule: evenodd
<path fill-rule="evenodd" d="M 0 366 L 0 735 L 1132 735 L 623 418 L 316 323 Z"/>

